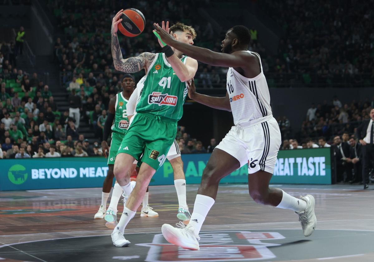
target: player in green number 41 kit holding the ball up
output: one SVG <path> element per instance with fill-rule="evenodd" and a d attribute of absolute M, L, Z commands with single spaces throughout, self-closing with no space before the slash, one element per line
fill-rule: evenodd
<path fill-rule="evenodd" d="M 183 53 L 169 46 L 162 46 L 162 53 L 141 53 L 137 57 L 123 59 L 117 38 L 117 25 L 121 12 L 112 22 L 112 56 L 116 70 L 126 73 L 146 71 L 144 89 L 137 104 L 137 114 L 130 125 L 117 152 L 114 162 L 114 176 L 125 190 L 130 186 L 128 170 L 134 160 L 140 164 L 137 183 L 131 192 L 123 214 L 111 234 L 117 247 L 128 246 L 123 236 L 128 222 L 134 217 L 141 204 L 147 186 L 163 164 L 177 132 L 177 121 L 183 114 L 183 103 L 187 96 L 186 81 L 194 77 L 197 61 L 183 56 Z M 169 24 L 162 25 L 169 31 Z M 193 44 L 196 32 L 192 27 L 176 24 L 170 28 L 172 36 L 186 44 Z M 142 156 L 142 158 L 140 158 Z"/>

